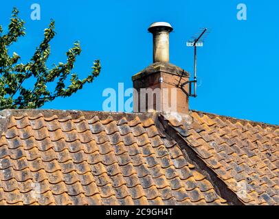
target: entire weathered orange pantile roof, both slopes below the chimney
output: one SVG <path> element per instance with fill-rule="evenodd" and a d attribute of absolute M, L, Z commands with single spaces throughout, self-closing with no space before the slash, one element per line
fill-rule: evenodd
<path fill-rule="evenodd" d="M 192 112 L 0 112 L 0 205 L 278 205 L 279 127 Z"/>

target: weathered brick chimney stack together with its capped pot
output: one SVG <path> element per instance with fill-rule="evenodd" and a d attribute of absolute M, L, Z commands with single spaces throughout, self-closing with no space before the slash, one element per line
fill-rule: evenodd
<path fill-rule="evenodd" d="M 189 81 L 189 73 L 169 63 L 169 34 L 166 22 L 150 25 L 153 34 L 153 64 L 133 75 L 134 112 L 188 114 L 188 95 L 177 86 Z"/>

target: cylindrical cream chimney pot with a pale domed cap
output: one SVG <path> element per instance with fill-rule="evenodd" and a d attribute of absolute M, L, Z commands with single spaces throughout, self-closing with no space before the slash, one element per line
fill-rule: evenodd
<path fill-rule="evenodd" d="M 166 22 L 155 22 L 148 31 L 153 34 L 153 62 L 170 62 L 169 34 L 172 26 Z"/>

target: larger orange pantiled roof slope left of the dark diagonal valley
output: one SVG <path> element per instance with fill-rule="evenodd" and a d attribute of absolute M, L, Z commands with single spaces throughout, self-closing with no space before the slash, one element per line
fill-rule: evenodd
<path fill-rule="evenodd" d="M 207 123 L 213 122 L 207 118 Z M 206 151 L 201 155 L 208 158 Z M 226 201 L 186 161 L 175 140 L 167 140 L 157 129 L 153 118 L 105 113 L 75 117 L 63 112 L 46 116 L 27 110 L 14 111 L 1 133 L 0 203 L 220 205 Z"/>

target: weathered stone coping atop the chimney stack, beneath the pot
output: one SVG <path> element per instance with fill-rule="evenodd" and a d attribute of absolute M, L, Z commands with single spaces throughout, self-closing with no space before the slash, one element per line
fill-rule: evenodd
<path fill-rule="evenodd" d="M 146 75 L 151 75 L 158 72 L 164 72 L 171 75 L 182 75 L 182 77 L 190 77 L 190 74 L 179 66 L 171 64 L 169 62 L 155 62 L 153 64 L 150 64 L 150 66 L 144 68 L 144 70 L 140 71 L 139 73 L 133 75 L 132 80 L 135 81 L 136 79 L 145 77 Z"/>

